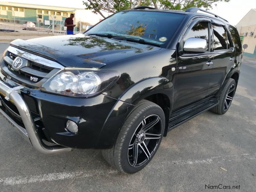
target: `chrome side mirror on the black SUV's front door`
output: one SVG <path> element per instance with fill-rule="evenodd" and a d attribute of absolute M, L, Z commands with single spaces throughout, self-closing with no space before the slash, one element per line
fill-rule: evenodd
<path fill-rule="evenodd" d="M 205 39 L 189 38 L 185 41 L 184 52 L 201 52 L 207 51 L 207 42 Z"/>

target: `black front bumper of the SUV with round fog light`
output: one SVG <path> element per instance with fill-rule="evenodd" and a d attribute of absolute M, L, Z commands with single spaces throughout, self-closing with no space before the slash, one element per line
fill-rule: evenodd
<path fill-rule="evenodd" d="M 0 109 L 5 112 L 2 114 L 12 126 L 15 125 L 19 132 L 25 133 L 22 135 L 26 140 L 30 138 L 30 135 L 27 125 L 25 126 L 23 122 L 26 122 L 26 118 L 29 117 L 30 124 L 28 126 L 32 127 L 37 134 L 36 138 L 39 140 L 37 142 L 46 140 L 66 148 L 111 148 L 127 115 L 133 108 L 131 104 L 104 94 L 85 99 L 49 94 L 25 86 L 14 91 L 11 88 L 20 84 L 17 84 L 15 79 L 9 78 L 1 76 L 0 73 L 2 87 Z M 4 99 L 8 90 L 11 92 L 9 94 L 11 100 L 13 99 L 11 95 L 17 96 L 18 94 L 22 105 L 26 106 L 28 116 L 25 115 L 23 118 L 21 114 L 24 112 L 17 110 L 20 101 L 14 103 Z M 68 120 L 76 122 L 78 134 L 73 134 L 65 129 Z"/>

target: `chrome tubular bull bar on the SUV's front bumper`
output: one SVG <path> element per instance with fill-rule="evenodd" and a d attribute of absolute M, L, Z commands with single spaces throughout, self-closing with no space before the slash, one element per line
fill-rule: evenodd
<path fill-rule="evenodd" d="M 31 116 L 30 110 L 27 103 L 24 101 L 20 94 L 20 89 L 23 89 L 22 86 L 11 88 L 8 85 L 4 84 L 0 80 L 0 92 L 5 96 L 6 100 L 11 100 L 11 102 L 16 106 L 20 113 L 20 117 L 26 129 L 19 126 L 15 123 L 11 117 L 9 117 L 3 110 L 0 109 L 0 114 L 12 124 L 12 126 L 19 132 L 21 135 L 32 144 L 32 146 L 41 154 L 44 155 L 55 155 L 60 153 L 65 153 L 71 151 L 71 148 L 63 147 L 60 145 L 57 146 L 48 146 L 44 144 L 41 136 L 37 131 L 37 127 L 34 123 L 34 120 Z"/>

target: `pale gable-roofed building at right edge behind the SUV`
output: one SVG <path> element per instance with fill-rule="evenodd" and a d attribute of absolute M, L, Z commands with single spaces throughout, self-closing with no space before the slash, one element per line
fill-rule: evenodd
<path fill-rule="evenodd" d="M 244 50 L 247 57 L 256 57 L 256 9 L 251 9 L 237 25 L 237 30 L 243 44 L 248 48 Z"/>

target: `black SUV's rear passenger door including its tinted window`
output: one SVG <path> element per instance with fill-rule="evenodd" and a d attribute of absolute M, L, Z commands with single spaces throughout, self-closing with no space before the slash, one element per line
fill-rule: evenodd
<path fill-rule="evenodd" d="M 235 48 L 224 23 L 212 20 L 213 68 L 208 95 L 214 95 L 221 87 L 235 62 Z"/>

